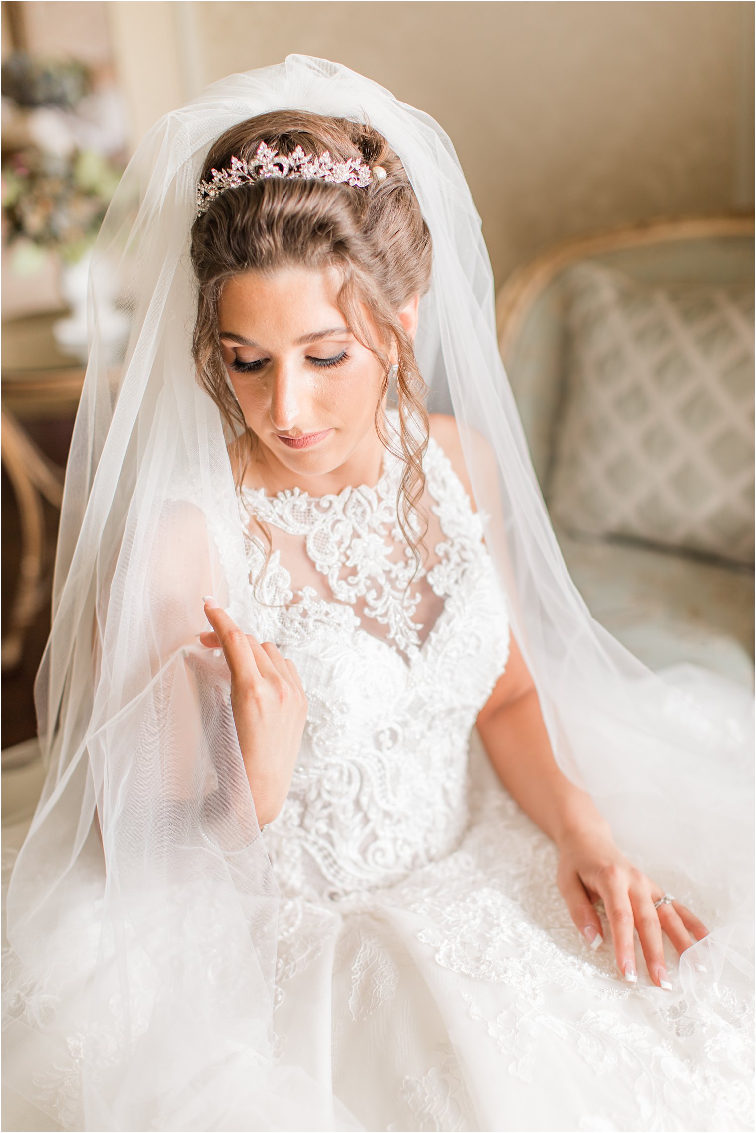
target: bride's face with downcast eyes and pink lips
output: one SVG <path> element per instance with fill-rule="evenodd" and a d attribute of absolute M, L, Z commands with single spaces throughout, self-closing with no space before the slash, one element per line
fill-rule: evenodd
<path fill-rule="evenodd" d="M 373 417 L 383 367 L 346 327 L 337 287 L 330 270 L 282 267 L 272 275 L 246 272 L 223 289 L 221 349 L 260 442 L 257 462 L 265 466 L 266 487 L 299 484 L 324 494 L 378 479 L 383 446 Z M 415 296 L 400 312 L 412 338 L 418 301 Z M 362 312 L 377 344 L 377 329 Z M 310 477 L 316 479 L 307 483 Z"/>

